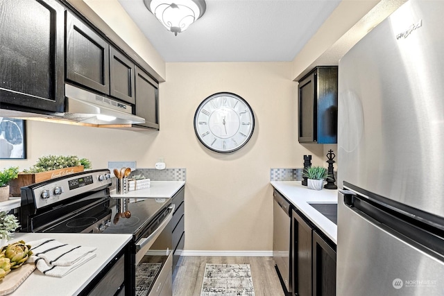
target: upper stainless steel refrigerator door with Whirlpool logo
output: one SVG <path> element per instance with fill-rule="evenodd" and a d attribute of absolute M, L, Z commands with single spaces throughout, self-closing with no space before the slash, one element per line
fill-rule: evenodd
<path fill-rule="evenodd" d="M 343 181 L 444 216 L 444 1 L 404 3 L 339 62 Z"/>

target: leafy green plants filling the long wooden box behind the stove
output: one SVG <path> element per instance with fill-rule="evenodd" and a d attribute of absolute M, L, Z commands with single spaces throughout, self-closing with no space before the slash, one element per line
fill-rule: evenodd
<path fill-rule="evenodd" d="M 86 158 L 78 159 L 75 155 L 48 155 L 40 157 L 34 166 L 31 166 L 28 170 L 23 170 L 23 172 L 42 173 L 71 166 L 83 166 L 85 169 L 92 168 L 91 162 Z"/>

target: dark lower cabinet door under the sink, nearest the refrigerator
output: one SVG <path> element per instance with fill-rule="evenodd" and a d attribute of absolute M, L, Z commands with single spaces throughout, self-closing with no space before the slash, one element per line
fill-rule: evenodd
<path fill-rule="evenodd" d="M 336 252 L 313 232 L 313 295 L 336 295 Z"/>

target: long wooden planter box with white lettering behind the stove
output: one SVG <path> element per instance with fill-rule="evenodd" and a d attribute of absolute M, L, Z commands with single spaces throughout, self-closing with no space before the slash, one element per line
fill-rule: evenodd
<path fill-rule="evenodd" d="M 70 168 L 60 168 L 54 171 L 33 174 L 19 173 L 19 177 L 17 177 L 17 179 L 10 180 L 9 182 L 9 185 L 11 186 L 10 193 L 12 194 L 12 196 L 20 196 L 22 194 L 22 192 L 20 191 L 20 187 L 43 182 L 46 180 L 51 180 L 56 177 L 63 177 L 65 175 L 70 175 L 78 172 L 83 172 L 83 166 L 71 166 Z"/>

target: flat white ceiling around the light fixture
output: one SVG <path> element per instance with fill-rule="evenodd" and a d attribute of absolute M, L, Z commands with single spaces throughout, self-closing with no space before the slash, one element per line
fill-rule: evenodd
<path fill-rule="evenodd" d="M 341 0 L 205 0 L 175 36 L 143 0 L 119 0 L 165 62 L 289 62 Z"/>

